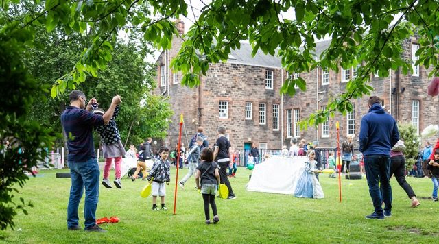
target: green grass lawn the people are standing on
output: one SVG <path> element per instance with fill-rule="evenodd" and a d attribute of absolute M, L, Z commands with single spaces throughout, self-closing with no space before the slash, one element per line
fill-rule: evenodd
<path fill-rule="evenodd" d="M 67 172 L 67 170 L 62 170 Z M 69 178 L 55 178 L 60 171 L 40 171 L 16 199 L 31 200 L 29 215 L 15 218 L 15 230 L 0 231 L 5 243 L 436 243 L 439 238 L 438 206 L 432 202 L 431 180 L 409 178 L 420 199 L 410 199 L 392 179 L 392 217 L 384 221 L 364 217 L 373 210 L 366 180 L 342 180 L 343 201 L 338 200 L 337 180 L 320 175 L 324 199 L 298 199 L 291 195 L 246 191 L 251 171 L 239 168 L 231 179 L 235 200 L 217 199 L 220 221 L 204 223 L 202 197 L 189 179 L 178 188 L 177 212 L 173 215 L 176 170 L 171 171 L 166 203 L 169 211 L 153 212 L 152 199 L 139 196 L 142 180 L 122 180 L 123 189 L 100 187 L 97 218 L 117 216 L 119 223 L 103 224 L 107 233 L 67 231 Z M 179 172 L 180 178 L 187 169 Z M 114 180 L 114 171 L 110 173 Z M 352 183 L 353 186 L 348 186 Z M 80 225 L 84 226 L 80 204 Z"/>

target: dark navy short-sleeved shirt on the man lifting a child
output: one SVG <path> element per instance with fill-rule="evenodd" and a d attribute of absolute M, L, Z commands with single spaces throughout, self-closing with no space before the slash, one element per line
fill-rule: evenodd
<path fill-rule="evenodd" d="M 104 125 L 102 116 L 74 106 L 67 106 L 61 114 L 61 124 L 67 135 L 67 160 L 86 162 L 95 158 L 93 127 Z"/>

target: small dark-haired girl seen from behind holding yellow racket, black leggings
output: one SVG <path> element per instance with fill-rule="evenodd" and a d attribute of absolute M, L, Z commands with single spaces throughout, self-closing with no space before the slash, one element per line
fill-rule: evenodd
<path fill-rule="evenodd" d="M 219 221 L 217 213 L 217 205 L 215 204 L 215 194 L 219 184 L 218 164 L 213 162 L 213 150 L 206 147 L 201 151 L 202 164 L 198 165 L 195 173 L 195 184 L 201 189 L 204 201 L 204 215 L 206 216 L 206 224 L 211 223 L 209 216 L 209 204 L 211 204 L 213 212 L 213 223 Z M 200 186 L 201 182 L 201 186 Z"/>

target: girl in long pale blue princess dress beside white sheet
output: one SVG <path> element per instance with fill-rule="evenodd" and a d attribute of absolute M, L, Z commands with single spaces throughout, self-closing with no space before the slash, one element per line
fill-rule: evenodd
<path fill-rule="evenodd" d="M 307 156 L 309 160 L 305 162 L 305 170 L 298 179 L 294 195 L 296 197 L 323 198 L 322 186 L 320 186 L 316 178 L 316 173 L 318 172 L 317 162 L 314 160 L 316 153 L 314 150 L 309 149 Z"/>

